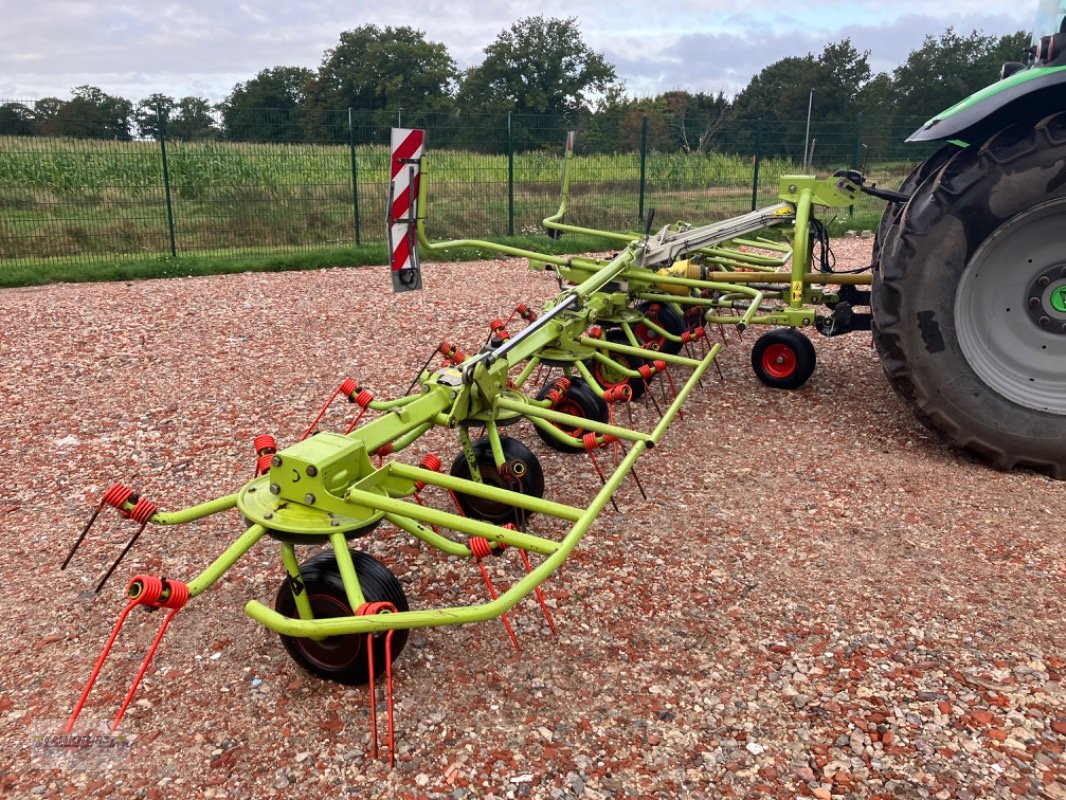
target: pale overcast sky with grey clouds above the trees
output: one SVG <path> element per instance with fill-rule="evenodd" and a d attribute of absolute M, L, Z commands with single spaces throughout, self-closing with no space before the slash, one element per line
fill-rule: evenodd
<path fill-rule="evenodd" d="M 99 86 L 133 102 L 162 92 L 212 102 L 274 66 L 317 68 L 341 31 L 410 26 L 443 43 L 461 68 L 524 16 L 576 17 L 630 95 L 671 89 L 733 95 L 762 67 L 818 54 L 850 36 L 890 71 L 949 26 L 1029 31 L 1035 2 L 1014 0 L 0 0 L 0 98 L 66 98 Z"/>

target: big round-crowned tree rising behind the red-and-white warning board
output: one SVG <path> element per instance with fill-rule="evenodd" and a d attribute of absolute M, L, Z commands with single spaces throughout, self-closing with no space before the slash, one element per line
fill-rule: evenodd
<path fill-rule="evenodd" d="M 422 31 L 365 25 L 341 33 L 337 47 L 326 51 L 308 91 L 309 124 L 346 139 L 346 112 L 336 115 L 346 109 L 377 112 L 374 124 L 389 124 L 401 109 L 448 112 L 456 77 L 448 48 L 427 42 Z"/>

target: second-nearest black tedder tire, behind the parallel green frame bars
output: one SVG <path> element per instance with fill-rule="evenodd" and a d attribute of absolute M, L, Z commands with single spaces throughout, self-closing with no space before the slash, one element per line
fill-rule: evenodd
<path fill-rule="evenodd" d="M 533 497 L 544 497 L 544 469 L 533 451 L 516 438 L 511 436 L 500 436 L 500 444 L 503 447 L 503 457 L 508 464 L 517 465 L 521 468 L 520 477 L 516 476 L 511 482 L 506 481 L 500 470 L 496 467 L 492 459 L 492 449 L 487 438 L 479 438 L 473 442 L 474 459 L 478 462 L 478 471 L 481 473 L 481 480 L 490 486 L 507 489 L 512 492 L 520 492 L 523 495 Z M 513 469 L 515 466 L 512 467 Z M 455 478 L 470 480 L 470 465 L 467 464 L 466 455 L 461 451 L 452 462 L 451 475 Z M 455 493 L 455 499 L 463 509 L 463 513 L 474 519 L 484 519 L 496 525 L 506 525 L 511 523 L 519 528 L 524 527 L 524 522 L 534 513 L 526 509 L 518 509 L 506 503 L 486 500 L 481 497 Z"/>

